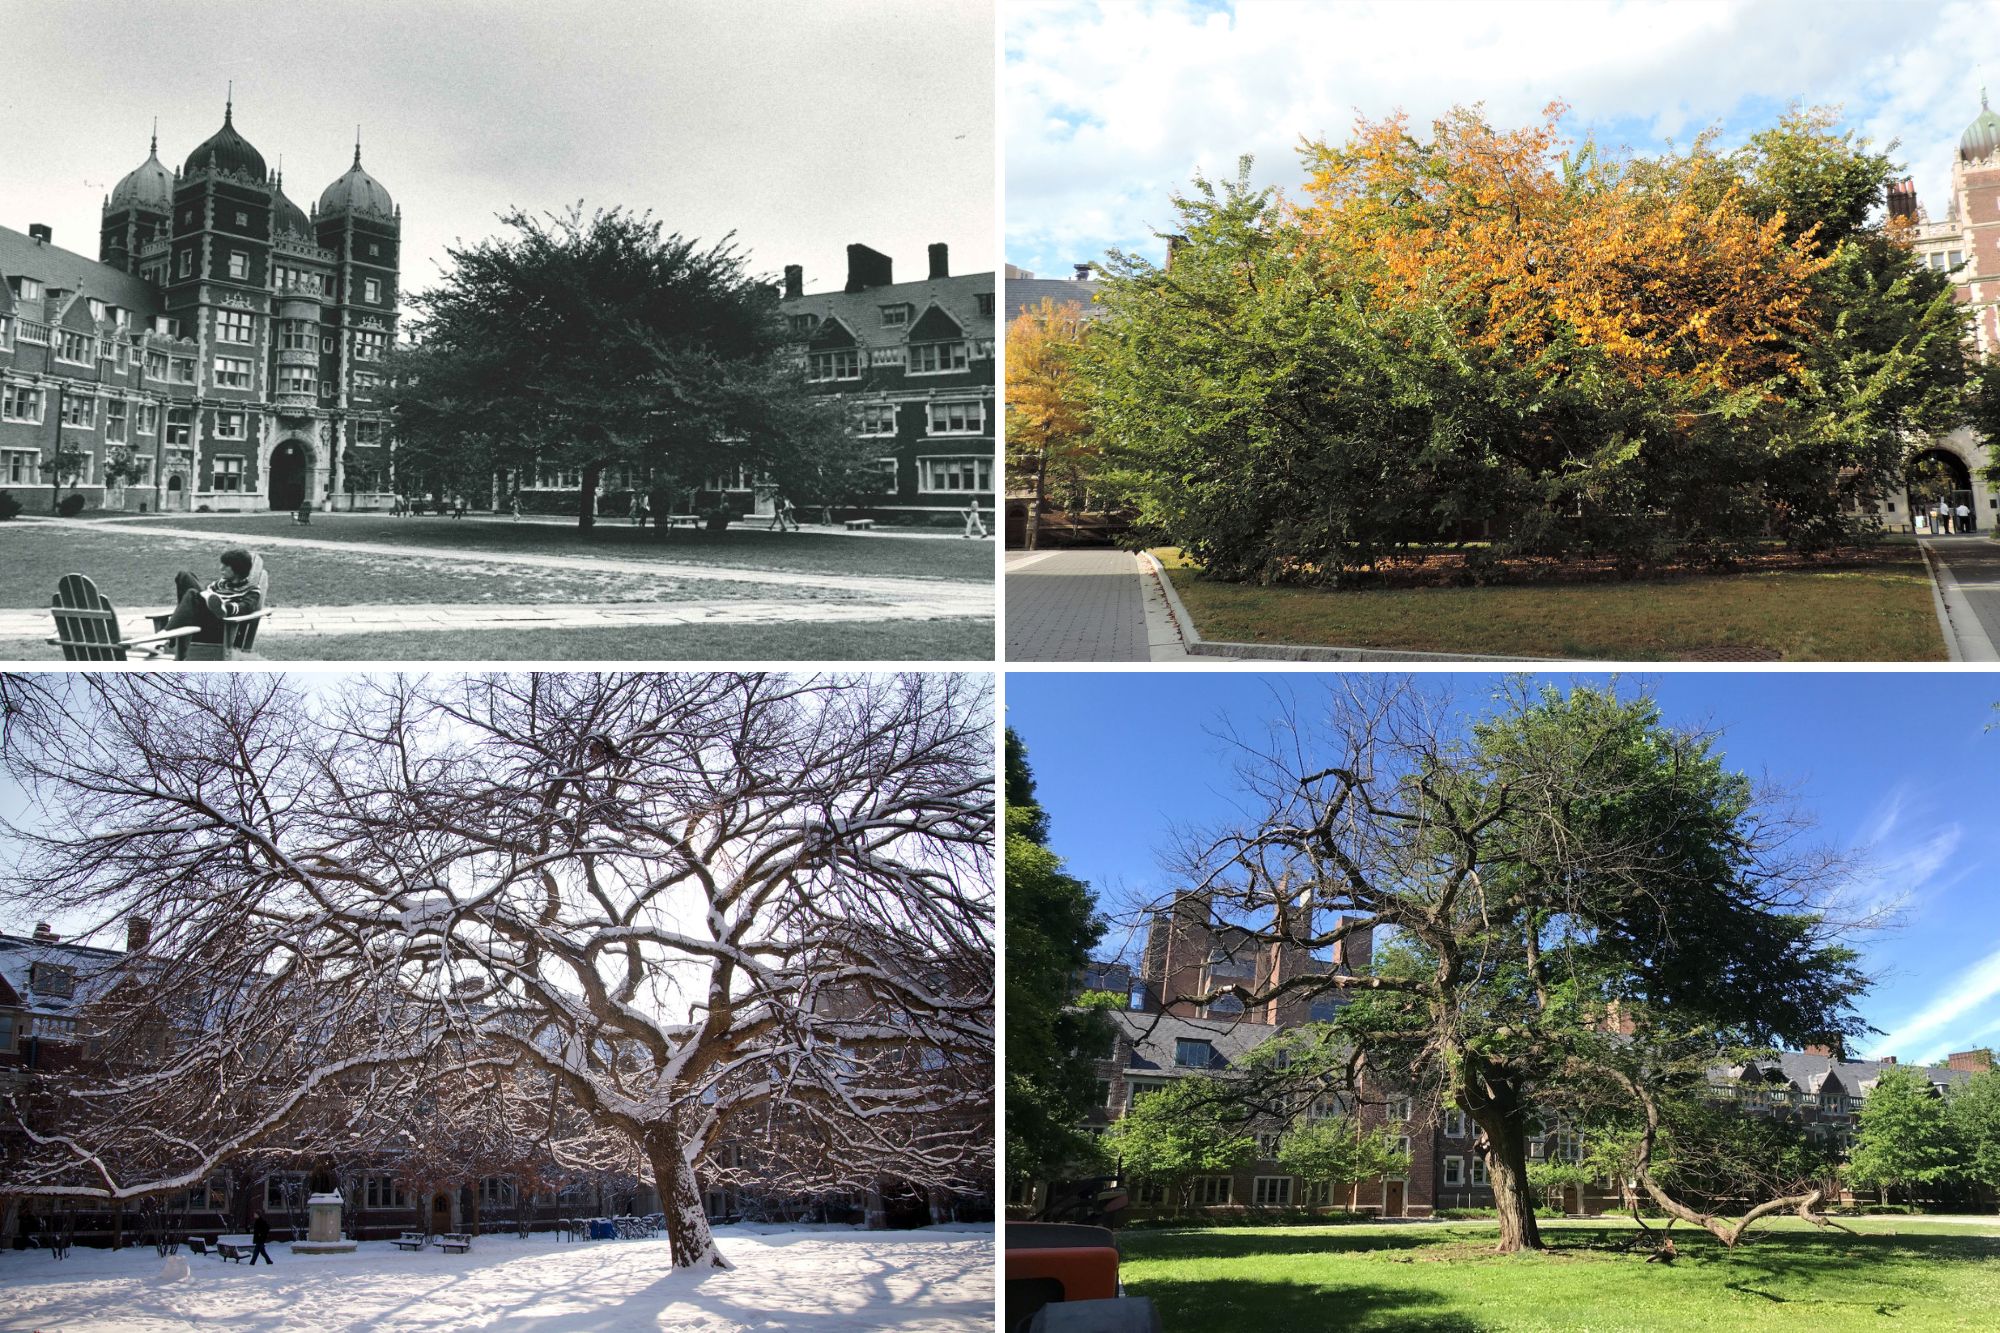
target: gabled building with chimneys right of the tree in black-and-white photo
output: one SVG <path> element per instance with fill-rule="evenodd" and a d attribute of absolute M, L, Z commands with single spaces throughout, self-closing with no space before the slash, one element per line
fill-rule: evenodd
<path fill-rule="evenodd" d="M 854 434 L 876 444 L 876 494 L 854 496 L 854 512 L 948 520 L 978 504 L 994 508 L 994 274 L 952 276 L 950 252 L 930 246 L 930 272 L 896 282 L 890 256 L 848 246 L 838 292 L 808 294 L 804 268 L 784 270 L 784 318 L 806 358 L 806 378 L 838 394 Z M 758 478 L 716 478 L 742 498 Z"/>

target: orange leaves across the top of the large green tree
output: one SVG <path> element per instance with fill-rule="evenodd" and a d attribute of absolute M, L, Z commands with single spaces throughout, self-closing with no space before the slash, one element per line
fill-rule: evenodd
<path fill-rule="evenodd" d="M 1370 300 L 1446 310 L 1472 346 L 1538 376 L 1594 362 L 1632 382 L 1732 392 L 1798 372 L 1810 280 L 1830 258 L 1758 220 L 1702 140 L 1632 170 L 1570 152 L 1552 104 L 1494 130 L 1456 108 L 1418 142 L 1404 116 L 1304 146 L 1300 258 Z"/>

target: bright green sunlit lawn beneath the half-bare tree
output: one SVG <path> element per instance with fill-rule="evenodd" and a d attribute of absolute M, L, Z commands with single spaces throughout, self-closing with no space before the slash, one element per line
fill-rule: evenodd
<path fill-rule="evenodd" d="M 1168 1329 L 1992 1329 L 1992 1227 L 1766 1223 L 1732 1253 L 1674 1229 L 1680 1261 L 1610 1249 L 1632 1223 L 1546 1221 L 1550 1251 L 1494 1255 L 1494 1223 L 1128 1231 L 1122 1279 Z"/>

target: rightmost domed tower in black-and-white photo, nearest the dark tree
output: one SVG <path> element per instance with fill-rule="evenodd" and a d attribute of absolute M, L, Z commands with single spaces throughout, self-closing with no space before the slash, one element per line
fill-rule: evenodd
<path fill-rule="evenodd" d="M 362 166 L 360 132 L 354 166 L 320 192 L 312 226 L 334 264 L 322 312 L 332 352 L 320 362 L 334 386 L 334 488 L 380 492 L 390 484 L 380 390 L 382 358 L 396 344 L 402 210 Z"/>

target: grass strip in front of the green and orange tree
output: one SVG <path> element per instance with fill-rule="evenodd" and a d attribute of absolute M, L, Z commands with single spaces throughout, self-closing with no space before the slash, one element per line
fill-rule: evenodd
<path fill-rule="evenodd" d="M 1488 588 L 1260 588 L 1156 550 L 1202 638 L 1616 660 L 1938 662 L 1914 544 L 1866 568 Z"/>

